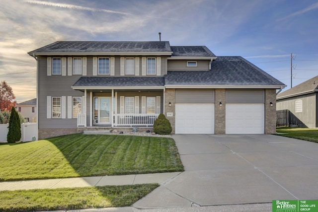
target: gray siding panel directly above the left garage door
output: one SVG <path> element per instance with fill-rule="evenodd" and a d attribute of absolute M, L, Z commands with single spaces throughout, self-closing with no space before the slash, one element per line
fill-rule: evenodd
<path fill-rule="evenodd" d="M 175 103 L 214 103 L 214 89 L 176 89 Z"/>

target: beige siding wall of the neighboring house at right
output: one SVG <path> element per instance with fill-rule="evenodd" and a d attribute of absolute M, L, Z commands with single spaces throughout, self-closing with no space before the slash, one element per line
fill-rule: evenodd
<path fill-rule="evenodd" d="M 295 101 L 303 101 L 303 112 L 295 112 Z M 305 94 L 287 99 L 277 100 L 276 110 L 289 110 L 302 124 L 300 127 L 316 128 L 317 125 L 317 94 Z M 299 123 L 300 123 L 299 122 Z M 291 123 L 293 124 L 293 123 Z"/>

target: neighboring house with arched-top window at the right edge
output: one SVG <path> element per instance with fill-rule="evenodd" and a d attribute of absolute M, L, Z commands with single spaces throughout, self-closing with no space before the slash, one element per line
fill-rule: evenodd
<path fill-rule="evenodd" d="M 289 124 L 318 127 L 318 76 L 277 95 L 276 110 L 289 110 Z"/>

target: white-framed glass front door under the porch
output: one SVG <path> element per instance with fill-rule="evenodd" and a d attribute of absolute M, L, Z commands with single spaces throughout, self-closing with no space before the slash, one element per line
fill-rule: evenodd
<path fill-rule="evenodd" d="M 94 124 L 110 124 L 111 97 L 94 97 Z"/>

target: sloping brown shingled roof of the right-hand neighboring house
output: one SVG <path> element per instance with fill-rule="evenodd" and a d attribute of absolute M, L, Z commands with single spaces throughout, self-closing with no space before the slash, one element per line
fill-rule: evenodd
<path fill-rule="evenodd" d="M 276 99 L 284 99 L 312 92 L 318 92 L 318 76 L 278 94 Z"/>

